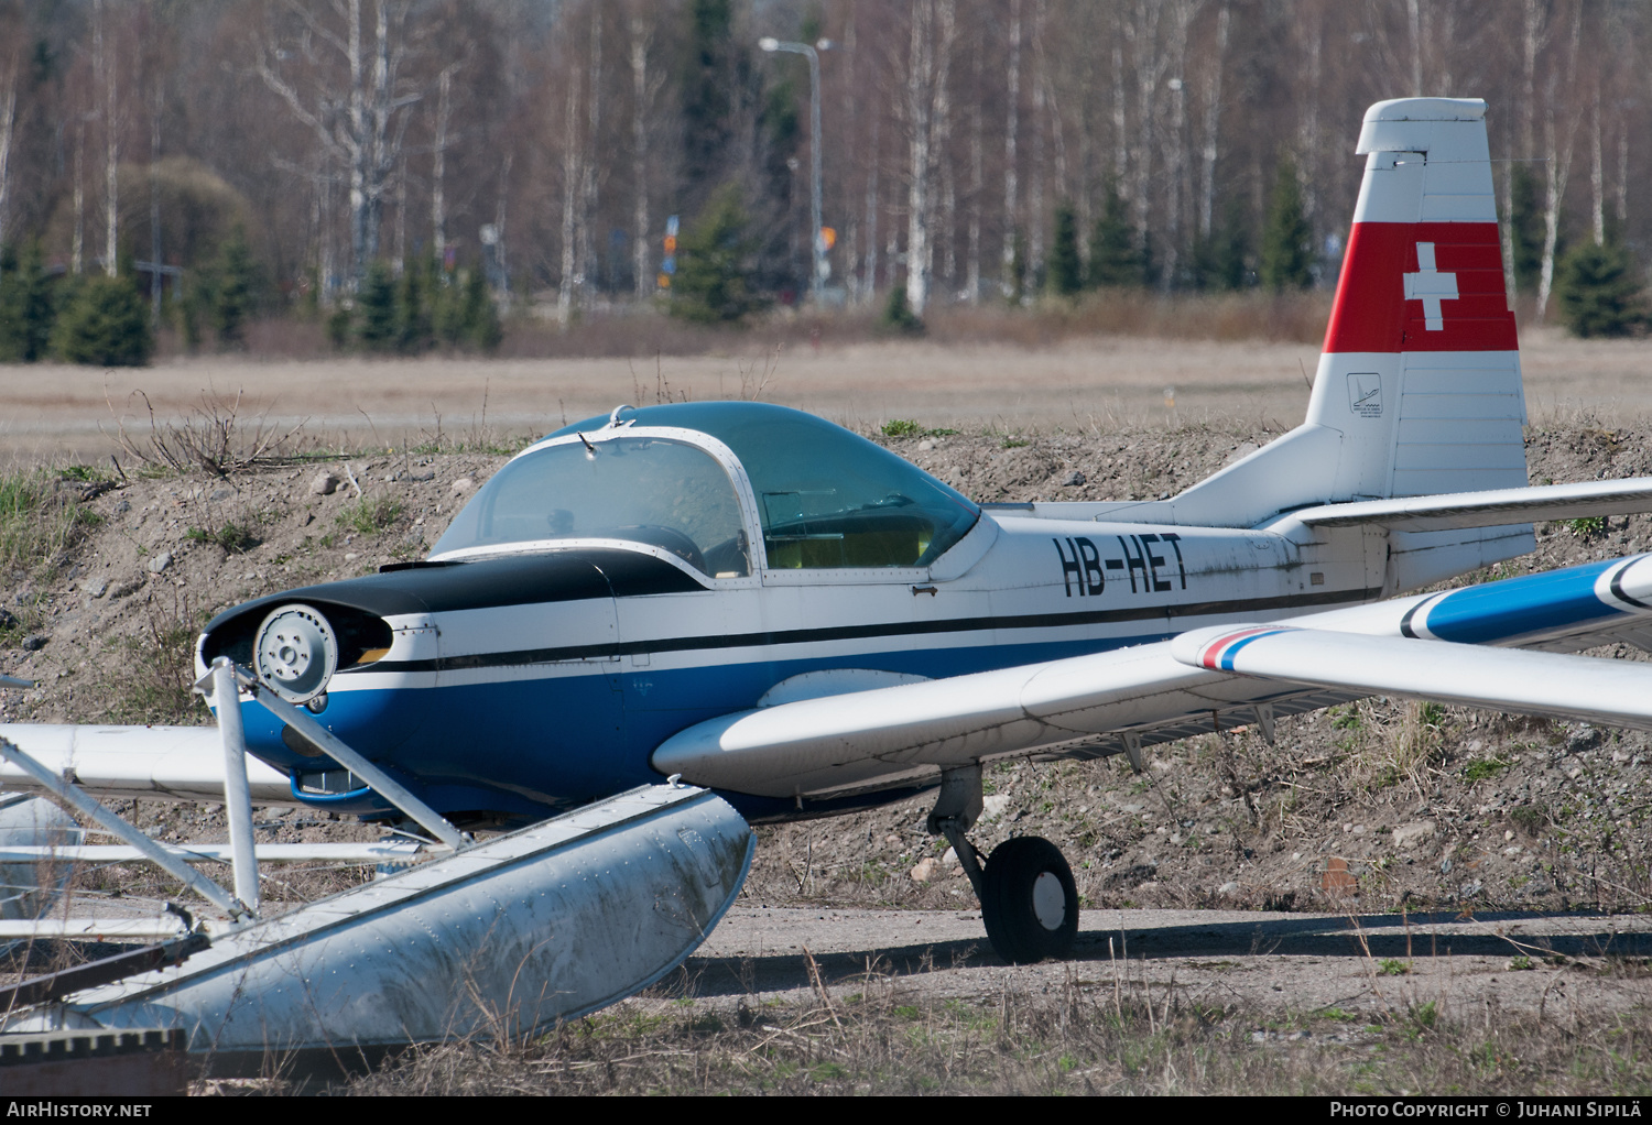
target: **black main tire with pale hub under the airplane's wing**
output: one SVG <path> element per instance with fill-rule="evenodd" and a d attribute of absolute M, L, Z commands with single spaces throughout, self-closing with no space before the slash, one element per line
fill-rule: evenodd
<path fill-rule="evenodd" d="M 1037 836 L 1006 839 L 993 849 L 981 874 L 981 922 L 1001 958 L 1028 965 L 1072 953 L 1079 937 L 1079 887 L 1059 847 Z"/>

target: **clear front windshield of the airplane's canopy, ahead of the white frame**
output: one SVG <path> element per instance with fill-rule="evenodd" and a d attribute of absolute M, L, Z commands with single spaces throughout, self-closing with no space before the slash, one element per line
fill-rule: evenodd
<path fill-rule="evenodd" d="M 704 449 L 657 438 L 550 446 L 510 461 L 431 553 L 557 539 L 653 544 L 717 578 L 750 572 L 729 474 Z"/>

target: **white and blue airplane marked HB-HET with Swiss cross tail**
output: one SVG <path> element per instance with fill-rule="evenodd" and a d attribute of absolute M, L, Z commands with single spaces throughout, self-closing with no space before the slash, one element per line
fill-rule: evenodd
<path fill-rule="evenodd" d="M 1371 694 L 1652 729 L 1652 667 L 1568 654 L 1652 648 L 1652 557 L 1408 593 L 1533 550 L 1535 520 L 1652 510 L 1652 479 L 1526 484 L 1483 116 L 1370 109 L 1307 420 L 1180 496 L 975 504 L 795 410 L 620 406 L 510 459 L 426 560 L 218 615 L 197 671 L 249 669 L 458 824 L 666 778 L 748 823 L 938 788 L 928 828 L 1011 961 L 1066 955 L 1079 904 L 1047 841 L 970 846 L 995 760 L 1140 768 Z M 246 700 L 254 800 L 395 816 Z M 223 783 L 192 732 L 0 735 L 93 793 Z"/>

